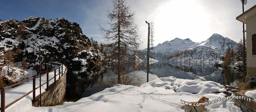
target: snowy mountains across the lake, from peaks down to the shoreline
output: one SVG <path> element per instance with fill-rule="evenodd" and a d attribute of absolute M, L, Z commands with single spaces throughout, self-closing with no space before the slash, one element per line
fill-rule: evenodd
<path fill-rule="evenodd" d="M 220 34 L 213 34 L 201 43 L 195 43 L 189 38 L 184 40 L 175 38 L 155 46 L 152 57 L 162 61 L 167 59 L 167 61 L 216 61 L 225 54 L 228 47 L 235 50 L 237 45 L 235 41 Z M 147 52 L 147 49 L 141 51 Z M 175 54 L 180 55 L 170 59 L 170 56 Z"/>

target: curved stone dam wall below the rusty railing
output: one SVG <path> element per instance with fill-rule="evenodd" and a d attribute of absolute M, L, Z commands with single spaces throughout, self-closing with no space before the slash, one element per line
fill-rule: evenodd
<path fill-rule="evenodd" d="M 67 68 L 65 69 L 63 75 L 56 81 L 56 83 L 49 85 L 49 90 L 41 94 L 42 106 L 55 105 L 56 103 L 59 103 L 62 99 L 64 99 L 67 83 L 66 74 Z M 38 107 L 40 105 L 39 96 L 36 97 L 36 100 L 36 102 L 32 102 L 32 105 Z"/>

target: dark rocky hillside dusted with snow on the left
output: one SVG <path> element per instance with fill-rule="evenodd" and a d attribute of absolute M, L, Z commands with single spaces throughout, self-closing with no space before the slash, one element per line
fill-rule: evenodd
<path fill-rule="evenodd" d="M 0 19 L 0 55 L 5 55 L 10 49 L 14 52 L 15 63 L 25 57 L 28 66 L 33 66 L 39 63 L 39 48 L 43 62 L 57 56 L 59 61 L 63 58 L 64 63 L 70 66 L 93 67 L 103 60 L 103 54 L 92 47 L 76 22 L 44 17 L 30 17 L 22 21 Z"/>

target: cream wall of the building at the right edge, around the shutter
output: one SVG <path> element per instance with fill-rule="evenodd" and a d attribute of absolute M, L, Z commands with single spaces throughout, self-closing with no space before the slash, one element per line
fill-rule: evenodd
<path fill-rule="evenodd" d="M 256 55 L 252 55 L 252 36 L 256 34 L 256 15 L 246 19 L 247 77 L 256 74 Z"/>

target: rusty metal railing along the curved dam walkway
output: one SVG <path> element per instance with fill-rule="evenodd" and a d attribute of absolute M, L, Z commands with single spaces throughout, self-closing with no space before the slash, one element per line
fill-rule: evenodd
<path fill-rule="evenodd" d="M 58 64 L 58 63 L 55 63 L 55 64 Z M 60 64 L 59 64 L 60 65 Z M 67 67 L 66 67 L 67 68 Z M 58 71 L 57 71 L 58 70 Z M 61 76 L 63 75 L 63 63 L 61 63 L 61 66 L 59 66 L 57 69 L 55 69 L 54 67 L 54 70 L 50 71 L 50 72 L 54 72 L 54 83 L 56 83 L 56 76 L 59 75 L 59 78 L 60 78 L 60 74 Z M 56 72 L 59 72 L 57 75 L 56 75 Z M 43 76 L 46 74 L 46 82 L 41 84 L 41 80 L 40 80 L 40 84 L 38 87 L 36 87 L 36 78 L 40 77 L 40 76 Z M 1 112 L 5 112 L 5 109 L 10 107 L 11 105 L 13 105 L 14 103 L 18 102 L 20 99 L 24 98 L 25 96 L 29 95 L 30 93 L 33 92 L 33 102 L 36 102 L 36 89 L 38 89 L 39 87 L 43 86 L 44 84 L 46 84 L 46 90 L 49 90 L 49 81 L 51 81 L 53 78 L 49 79 L 49 72 L 46 72 L 44 74 L 39 74 L 38 76 L 33 76 L 32 78 L 28 78 L 28 79 L 25 79 L 23 81 L 20 81 L 16 84 L 12 84 L 8 87 L 1 87 Z M 11 102 L 9 105 L 5 106 L 5 90 L 8 89 L 8 88 L 11 88 L 11 87 L 14 87 L 14 86 L 17 86 L 19 84 L 22 84 L 24 82 L 28 82 L 30 80 L 33 80 L 33 90 L 26 93 L 25 95 L 21 96 L 20 98 L 16 99 L 14 102 Z M 41 91 L 40 91 L 40 96 L 41 96 Z M 41 105 L 41 100 L 40 100 L 40 105 Z"/>

